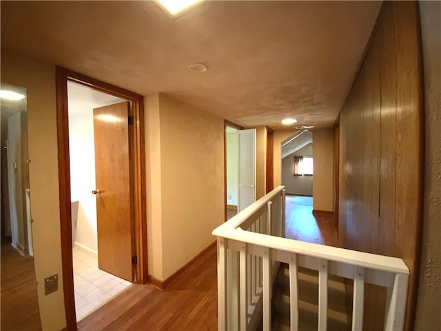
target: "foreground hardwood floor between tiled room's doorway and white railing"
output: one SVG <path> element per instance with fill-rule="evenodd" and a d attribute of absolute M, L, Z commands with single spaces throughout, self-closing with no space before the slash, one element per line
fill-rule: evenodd
<path fill-rule="evenodd" d="M 130 285 L 78 323 L 90 330 L 217 330 L 216 247 L 164 291 Z"/>

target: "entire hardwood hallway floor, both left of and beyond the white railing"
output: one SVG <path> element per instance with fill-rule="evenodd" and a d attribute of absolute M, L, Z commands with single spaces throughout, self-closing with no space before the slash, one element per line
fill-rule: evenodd
<path fill-rule="evenodd" d="M 287 197 L 288 238 L 336 245 L 332 219 L 316 219 L 311 214 L 312 205 L 291 202 Z M 78 323 L 79 331 L 200 331 L 217 330 L 217 327 L 216 247 L 166 290 L 150 284 L 130 285 Z"/>

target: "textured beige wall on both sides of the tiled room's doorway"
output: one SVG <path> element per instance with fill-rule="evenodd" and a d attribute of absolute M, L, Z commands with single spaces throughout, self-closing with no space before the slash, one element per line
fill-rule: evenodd
<path fill-rule="evenodd" d="M 41 323 L 43 330 L 61 330 L 65 308 L 55 68 L 1 50 L 1 81 L 28 89 L 30 190 Z M 145 99 L 149 273 L 163 280 L 212 243 L 212 230 L 223 222 L 223 119 L 164 94 Z M 45 296 L 43 279 L 52 274 L 59 274 L 59 290 Z"/>

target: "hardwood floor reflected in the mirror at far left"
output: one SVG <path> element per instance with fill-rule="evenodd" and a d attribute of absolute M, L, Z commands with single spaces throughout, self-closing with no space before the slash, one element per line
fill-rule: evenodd
<path fill-rule="evenodd" d="M 34 259 L 1 243 L 1 330 L 41 330 Z"/>

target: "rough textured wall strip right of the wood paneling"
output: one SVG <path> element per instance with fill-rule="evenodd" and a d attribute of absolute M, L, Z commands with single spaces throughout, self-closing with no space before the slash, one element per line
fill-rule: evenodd
<path fill-rule="evenodd" d="M 425 89 L 425 167 L 422 255 L 415 330 L 441 325 L 441 2 L 420 2 Z"/>

